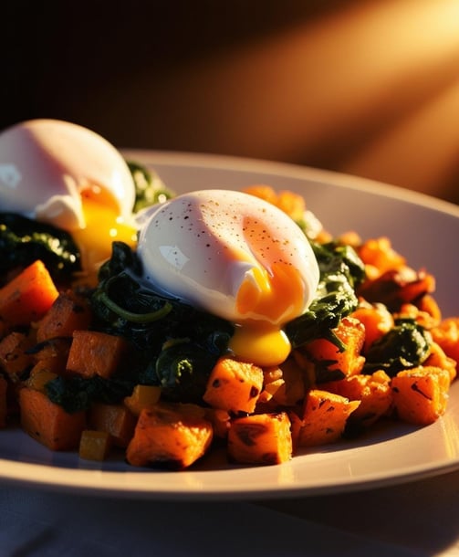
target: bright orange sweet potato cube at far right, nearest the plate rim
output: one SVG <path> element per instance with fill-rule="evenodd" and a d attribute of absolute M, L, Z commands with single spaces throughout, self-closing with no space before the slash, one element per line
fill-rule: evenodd
<path fill-rule="evenodd" d="M 410 424 L 432 424 L 446 410 L 450 384 L 448 371 L 433 366 L 397 373 L 391 381 L 396 415 Z"/>

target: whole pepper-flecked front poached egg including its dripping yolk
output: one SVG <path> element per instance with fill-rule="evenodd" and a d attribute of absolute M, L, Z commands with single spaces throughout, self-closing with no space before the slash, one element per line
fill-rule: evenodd
<path fill-rule="evenodd" d="M 286 360 L 282 328 L 318 287 L 318 263 L 297 224 L 240 192 L 203 190 L 157 207 L 138 253 L 147 282 L 234 322 L 230 349 L 259 365 Z"/>

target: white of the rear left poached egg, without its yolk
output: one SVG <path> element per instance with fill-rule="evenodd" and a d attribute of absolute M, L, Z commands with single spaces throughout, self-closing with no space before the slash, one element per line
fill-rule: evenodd
<path fill-rule="evenodd" d="M 99 134 L 67 121 L 24 121 L 0 133 L 2 211 L 72 231 L 85 226 L 84 188 L 108 190 L 130 218 L 135 187 L 120 152 Z"/>

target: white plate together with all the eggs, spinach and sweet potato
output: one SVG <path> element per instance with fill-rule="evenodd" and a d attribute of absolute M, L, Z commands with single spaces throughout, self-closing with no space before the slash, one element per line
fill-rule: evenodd
<path fill-rule="evenodd" d="M 0 481 L 145 499 L 459 468 L 459 208 L 308 167 L 0 134 Z"/>

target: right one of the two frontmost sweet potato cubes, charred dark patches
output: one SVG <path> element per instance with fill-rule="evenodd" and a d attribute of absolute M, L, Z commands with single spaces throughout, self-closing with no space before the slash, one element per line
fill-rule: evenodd
<path fill-rule="evenodd" d="M 228 457 L 241 464 L 280 464 L 292 457 L 287 413 L 255 414 L 235 418 L 228 432 Z"/>

